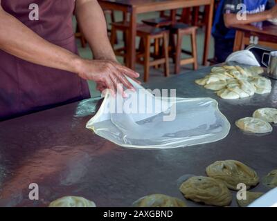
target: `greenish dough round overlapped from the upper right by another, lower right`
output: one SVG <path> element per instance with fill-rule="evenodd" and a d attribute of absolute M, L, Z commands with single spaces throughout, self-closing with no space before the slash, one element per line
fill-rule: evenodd
<path fill-rule="evenodd" d="M 232 200 L 232 195 L 226 185 L 211 177 L 190 177 L 181 184 L 179 190 L 185 198 L 208 205 L 227 206 Z"/>

